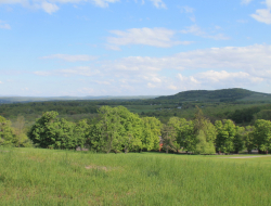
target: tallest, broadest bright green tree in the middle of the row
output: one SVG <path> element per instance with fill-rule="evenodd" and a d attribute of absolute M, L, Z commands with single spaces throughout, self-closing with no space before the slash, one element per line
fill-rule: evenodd
<path fill-rule="evenodd" d="M 145 147 L 153 149 L 154 145 L 146 145 L 146 139 L 150 140 L 147 136 L 152 136 L 152 132 L 155 134 L 157 131 L 151 130 L 151 133 L 146 136 L 146 132 L 142 130 L 142 120 L 137 114 L 130 113 L 124 106 L 102 106 L 99 114 L 100 121 L 90 131 L 91 144 L 94 150 L 106 153 L 122 150 L 126 153 L 128 151 L 140 151 L 142 150 L 142 140 L 144 140 Z M 149 141 L 149 144 L 151 143 L 154 144 L 154 142 Z"/>

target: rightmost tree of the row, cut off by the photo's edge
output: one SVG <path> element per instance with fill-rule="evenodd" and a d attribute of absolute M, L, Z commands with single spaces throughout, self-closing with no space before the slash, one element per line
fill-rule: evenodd
<path fill-rule="evenodd" d="M 271 121 L 258 119 L 255 123 L 254 140 L 258 145 L 259 153 L 266 152 L 271 149 Z"/>

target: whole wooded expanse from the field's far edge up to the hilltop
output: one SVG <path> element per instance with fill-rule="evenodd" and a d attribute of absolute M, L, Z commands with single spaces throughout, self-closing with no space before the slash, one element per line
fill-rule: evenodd
<path fill-rule="evenodd" d="M 0 145 L 87 146 L 106 153 L 164 150 L 214 154 L 256 147 L 267 152 L 271 149 L 271 103 L 257 100 L 259 95 L 269 98 L 229 89 L 149 100 L 0 104 Z M 249 101 L 241 101 L 247 98 Z M 260 140 L 261 136 L 266 139 Z"/>

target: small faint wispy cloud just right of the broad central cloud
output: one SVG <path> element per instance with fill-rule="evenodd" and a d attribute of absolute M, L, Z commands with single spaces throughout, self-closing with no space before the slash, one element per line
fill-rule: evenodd
<path fill-rule="evenodd" d="M 217 26 L 216 26 L 217 27 Z M 180 33 L 182 34 L 192 34 L 195 36 L 199 36 L 203 38 L 209 38 L 209 39 L 215 39 L 215 40 L 229 40 L 230 37 L 224 36 L 223 34 L 217 34 L 217 35 L 209 35 L 202 30 L 202 28 L 197 25 L 192 25 L 186 27 L 186 29 L 181 30 Z"/>

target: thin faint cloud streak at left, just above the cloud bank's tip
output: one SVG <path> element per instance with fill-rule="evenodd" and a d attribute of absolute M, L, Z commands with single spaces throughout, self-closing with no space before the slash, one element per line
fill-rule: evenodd
<path fill-rule="evenodd" d="M 53 54 L 49 56 L 42 56 L 41 59 L 59 59 L 67 62 L 88 62 L 96 60 L 96 56 L 93 55 L 68 55 L 68 54 Z"/>

